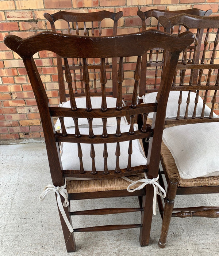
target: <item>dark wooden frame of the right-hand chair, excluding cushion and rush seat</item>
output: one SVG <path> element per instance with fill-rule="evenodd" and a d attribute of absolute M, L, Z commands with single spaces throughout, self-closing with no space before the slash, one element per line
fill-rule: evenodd
<path fill-rule="evenodd" d="M 174 83 L 171 87 L 173 91 L 180 91 L 178 99 L 178 113 L 172 120 L 165 121 L 165 125 L 181 125 L 181 124 L 194 124 L 194 123 L 206 123 L 206 122 L 218 122 L 218 118 L 213 117 L 214 105 L 218 103 L 216 95 L 219 89 L 219 64 L 214 61 L 217 54 L 218 36 L 219 36 L 219 18 L 218 17 L 199 17 L 193 15 L 177 15 L 172 18 L 160 17 L 159 22 L 164 26 L 168 33 L 173 31 L 174 26 L 180 25 L 181 28 L 192 30 L 195 33 L 195 42 L 193 49 L 191 48 L 189 54 L 184 53 L 184 63 L 178 64 L 177 68 L 180 72 L 180 79 L 174 79 Z M 204 31 L 200 34 L 200 31 Z M 209 46 L 211 45 L 211 50 Z M 200 47 L 197 50 L 197 47 Z M 195 71 L 197 71 L 197 79 L 194 78 Z M 187 97 L 187 109 L 185 110 L 184 117 L 179 116 L 180 105 L 182 104 L 181 92 L 188 91 Z M 196 97 L 192 117 L 188 117 L 188 107 L 191 103 L 190 92 L 195 92 Z M 198 103 L 198 95 L 203 98 L 203 108 L 201 115 L 196 116 L 196 105 Z M 211 95 L 211 96 L 210 96 Z M 211 113 L 208 117 L 204 117 L 204 108 L 206 104 L 211 103 Z M 207 160 L 204 159 L 204 161 Z M 167 166 L 164 165 L 164 161 L 161 157 L 162 167 L 165 173 L 166 180 L 168 182 L 168 193 L 165 200 L 165 207 L 163 213 L 162 231 L 158 245 L 164 248 L 166 245 L 166 237 L 168 234 L 169 224 L 171 217 L 207 217 L 218 218 L 219 207 L 189 207 L 189 208 L 173 208 L 174 198 L 176 195 L 192 195 L 192 194 L 205 194 L 205 193 L 219 193 L 219 186 L 200 186 L 200 187 L 180 187 L 177 185 L 176 180 L 168 178 Z M 160 208 L 161 200 L 159 201 Z M 174 212 L 174 213 L 173 213 Z M 162 214 L 162 212 L 161 212 Z"/>

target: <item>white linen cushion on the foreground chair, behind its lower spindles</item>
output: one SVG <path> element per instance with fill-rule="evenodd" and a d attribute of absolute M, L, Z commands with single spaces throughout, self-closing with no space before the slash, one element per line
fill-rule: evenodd
<path fill-rule="evenodd" d="M 122 125 L 121 132 L 128 132 L 130 125 Z M 134 125 L 134 130 L 137 130 L 137 125 Z M 66 131 L 68 133 L 74 133 L 74 128 L 67 128 Z M 94 134 L 102 134 L 103 128 L 93 128 Z M 116 126 L 107 127 L 108 134 L 116 132 Z M 81 134 L 88 134 L 88 128 L 81 128 Z M 95 139 L 94 139 L 95 140 Z M 103 158 L 103 144 L 93 144 L 95 149 L 95 165 L 97 171 L 104 170 L 104 158 Z M 121 169 L 127 168 L 128 163 L 128 146 L 129 141 L 120 142 L 120 157 L 119 157 L 119 166 Z M 62 167 L 64 170 L 66 169 L 74 169 L 80 170 L 80 163 L 78 158 L 78 150 L 77 150 L 77 143 L 61 143 L 60 146 L 61 150 L 61 161 Z M 90 144 L 83 144 L 81 143 L 81 150 L 82 150 L 82 161 L 84 170 L 91 170 L 92 169 L 92 162 L 91 162 L 91 146 Z M 116 166 L 116 143 L 107 143 L 107 151 L 108 151 L 108 170 L 115 170 Z M 143 153 L 141 144 L 139 140 L 132 140 L 132 156 L 131 156 L 131 166 L 138 166 L 138 165 L 146 165 L 147 159 Z M 73 180 L 78 180 L 79 178 L 68 178 Z M 83 179 L 84 180 L 84 179 Z"/>

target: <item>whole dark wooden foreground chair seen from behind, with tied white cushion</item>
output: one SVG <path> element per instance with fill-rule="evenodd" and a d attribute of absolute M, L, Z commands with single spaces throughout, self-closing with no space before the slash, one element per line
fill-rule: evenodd
<path fill-rule="evenodd" d="M 140 244 L 149 244 L 154 189 L 160 162 L 160 147 L 165 118 L 165 106 L 168 99 L 171 80 L 173 79 L 180 52 L 194 40 L 191 32 L 174 36 L 156 30 L 137 34 L 118 35 L 116 37 L 78 37 L 77 35 L 59 34 L 45 31 L 22 39 L 8 35 L 4 42 L 18 53 L 27 69 L 28 77 L 38 104 L 49 166 L 53 185 L 48 185 L 41 195 L 43 199 L 48 191 L 54 191 L 59 209 L 59 216 L 68 252 L 75 251 L 74 233 L 82 231 L 107 231 L 117 229 L 140 228 Z M 138 47 L 135 47 L 138 45 Z M 70 47 L 72 46 L 72 47 Z M 112 47 L 113 46 L 113 47 Z M 162 47 L 169 51 L 162 76 L 157 100 L 150 104 L 137 104 L 138 81 L 141 72 L 141 56 L 153 47 Z M 50 50 L 64 58 L 65 76 L 70 95 L 70 108 L 50 107 L 45 88 L 35 65 L 33 55 L 41 50 Z M 133 77 L 133 94 L 130 106 L 122 106 L 123 58 L 137 56 Z M 108 107 L 106 97 L 106 58 L 118 57 L 118 88 L 114 107 Z M 76 93 L 72 87 L 72 74 L 68 59 L 81 58 L 83 81 L 85 83 L 85 106 L 78 108 Z M 102 85 L 101 101 L 98 108 L 93 108 L 97 97 L 91 97 L 87 58 L 101 58 L 100 81 Z M 147 125 L 147 113 L 156 112 L 152 126 Z M 142 114 L 143 125 L 134 124 L 135 116 Z M 121 125 L 122 118 L 130 116 L 130 125 Z M 55 133 L 52 117 L 59 117 L 62 130 Z M 64 117 L 73 118 L 74 127 L 66 128 Z M 107 127 L 107 119 L 113 118 L 116 125 Z M 101 118 L 101 119 L 100 119 Z M 88 128 L 80 128 L 79 119 L 88 120 Z M 92 123 L 100 120 L 102 126 L 94 128 Z M 139 139 L 152 137 L 149 157 L 146 160 Z M 61 143 L 60 149 L 58 143 Z M 143 174 L 143 180 L 142 180 Z M 146 175 L 147 176 L 144 176 Z M 127 180 L 127 177 L 130 180 Z M 82 178 L 82 180 L 78 180 Z M 83 180 L 83 179 L 92 180 Z M 65 189 L 65 181 L 66 189 Z M 142 182 L 140 182 L 141 180 Z M 142 188 L 138 188 L 138 181 Z M 145 186 L 146 184 L 150 184 Z M 138 188 L 127 191 L 128 185 Z M 68 199 L 66 193 L 68 192 Z M 147 192 L 147 193 L 146 193 Z M 60 198 L 60 194 L 62 197 Z M 156 189 L 155 189 L 156 194 Z M 70 200 L 103 197 L 138 196 L 140 207 L 107 208 L 86 211 L 70 211 Z M 65 207 L 62 206 L 62 203 Z M 99 215 L 123 212 L 141 212 L 138 224 L 81 227 L 73 230 L 70 220 L 72 215 Z"/>

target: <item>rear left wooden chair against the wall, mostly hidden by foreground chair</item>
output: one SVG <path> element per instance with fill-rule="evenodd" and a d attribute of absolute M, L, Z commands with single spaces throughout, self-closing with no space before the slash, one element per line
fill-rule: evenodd
<path fill-rule="evenodd" d="M 105 29 L 107 33 L 109 34 L 109 31 L 112 35 L 117 34 L 117 26 L 118 26 L 118 20 L 123 16 L 123 12 L 109 12 L 109 11 L 99 11 L 99 12 L 89 12 L 89 13 L 77 13 L 77 12 L 66 12 L 66 11 L 59 11 L 54 14 L 48 14 L 45 13 L 44 17 L 50 22 L 51 29 L 53 32 L 58 32 L 60 29 L 56 29 L 55 23 L 58 23 L 60 21 L 66 22 L 66 27 L 64 29 L 64 24 L 59 26 L 62 27 L 61 31 L 64 34 L 75 34 L 75 35 L 85 35 L 85 36 L 100 36 L 103 35 L 102 30 L 102 23 L 104 19 L 111 19 L 113 21 L 112 24 L 112 31 L 110 29 Z M 72 27 L 71 27 L 72 26 Z M 107 35 L 108 35 L 107 34 Z M 104 34 L 106 35 L 106 34 Z M 96 74 L 96 69 L 100 69 L 100 61 L 99 63 L 96 63 L 97 60 L 91 59 L 90 63 L 87 62 L 88 68 L 93 69 L 93 90 L 91 92 L 92 94 L 97 95 L 97 85 L 96 85 L 96 77 L 98 74 Z M 111 71 L 112 76 L 112 83 L 114 87 L 114 95 L 113 97 L 116 97 L 116 88 L 117 85 L 115 83 L 116 81 L 116 59 L 113 58 L 111 61 L 111 64 L 107 60 L 106 62 L 107 68 L 109 71 Z M 57 56 L 57 68 L 58 68 L 58 84 L 59 84 L 59 93 L 60 93 L 60 102 L 66 102 L 66 97 L 69 95 L 65 94 L 65 84 L 64 84 L 64 74 L 63 71 L 65 70 L 64 65 L 62 65 L 62 60 L 59 56 Z M 75 86 L 75 93 L 78 93 L 78 96 L 84 95 L 84 84 L 83 84 L 83 76 L 82 76 L 82 63 L 81 59 L 73 59 L 72 65 L 70 65 L 70 70 L 73 70 L 73 80 L 74 80 L 74 86 Z M 80 74 L 77 74 L 77 71 L 80 72 Z M 80 81 L 80 82 L 79 82 Z M 80 89 L 79 89 L 79 88 Z M 79 90 L 78 90 L 79 89 Z M 81 94 L 80 94 L 81 93 Z M 111 92 L 112 93 L 112 92 Z M 100 95 L 100 94 L 99 94 Z"/>

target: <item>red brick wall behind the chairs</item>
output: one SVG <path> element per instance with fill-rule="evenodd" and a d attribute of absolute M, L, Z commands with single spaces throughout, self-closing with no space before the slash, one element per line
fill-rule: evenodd
<path fill-rule="evenodd" d="M 146 4 L 147 3 L 147 4 Z M 188 8 L 212 9 L 217 15 L 219 0 L 1 0 L 0 1 L 0 140 L 43 137 L 37 104 L 20 57 L 3 43 L 7 34 L 28 37 L 50 29 L 43 17 L 59 10 L 91 12 L 123 11 L 118 23 L 118 34 L 140 31 L 141 19 L 137 11 L 151 8 L 181 10 Z M 106 25 L 107 27 L 107 25 Z M 47 57 L 48 53 L 40 55 Z M 40 57 L 41 57 L 40 56 Z M 57 76 L 51 59 L 38 61 L 39 72 L 48 82 L 50 104 L 58 104 Z M 128 75 L 128 74 L 127 74 Z M 49 83 L 50 82 L 50 83 Z M 128 91 L 128 90 L 127 90 Z"/>

